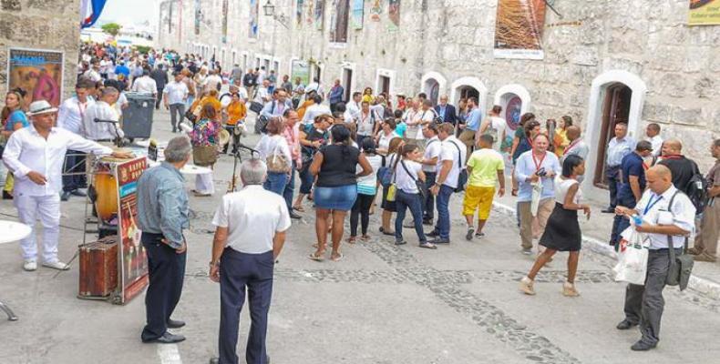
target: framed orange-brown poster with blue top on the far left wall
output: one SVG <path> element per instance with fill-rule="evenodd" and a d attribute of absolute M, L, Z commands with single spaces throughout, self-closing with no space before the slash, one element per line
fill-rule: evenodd
<path fill-rule="evenodd" d="M 26 91 L 25 105 L 46 100 L 59 106 L 63 95 L 63 58 L 59 51 L 10 48 L 7 57 L 7 89 Z"/>

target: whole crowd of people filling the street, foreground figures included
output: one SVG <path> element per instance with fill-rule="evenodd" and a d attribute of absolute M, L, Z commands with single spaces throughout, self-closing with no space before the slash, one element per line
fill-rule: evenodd
<path fill-rule="evenodd" d="M 224 83 L 230 84 L 229 91 L 221 95 Z M 451 200 L 460 192 L 457 198 L 462 199 L 467 223 L 464 237 L 488 234 L 484 227 L 493 199 L 505 195 L 505 173 L 511 170 L 519 248 L 523 254 L 533 254 L 534 248 L 538 253 L 520 289 L 534 295 L 540 269 L 556 252 L 568 251 L 562 293 L 580 294 L 574 284 L 582 240 L 578 211 L 591 216 L 591 207 L 581 198 L 590 147 L 570 116 L 540 123 L 527 113 L 513 130 L 501 106 L 484 113 L 474 97 L 461 100 L 458 108 L 447 103 L 447 96 L 439 96 L 434 105 L 422 93 L 397 95 L 393 103 L 389 95 L 375 95 L 367 87 L 345 99 L 339 80 L 324 92 L 318 79 L 303 85 L 299 78 L 278 80 L 273 70 L 266 73 L 263 67 L 243 73 L 237 65 L 223 73 L 214 59 L 171 51 L 140 55 L 112 45 L 83 47 L 75 95 L 59 109 L 44 100 L 26 108 L 21 89 L 5 96 L 3 161 L 9 173 L 3 197 L 14 198 L 28 226 L 34 227 L 37 217 L 43 222 L 47 267 L 68 268 L 57 259 L 59 206 L 60 200 L 86 196 L 84 153 L 128 157 L 110 147 L 123 137 L 122 100 L 130 91 L 153 95 L 156 108 L 170 110 L 172 132 L 187 134 L 171 139 L 162 167 L 139 180 L 139 225 L 150 274 L 144 342 L 184 339 L 168 332 L 184 325 L 170 319 L 180 298 L 187 247 L 182 236 L 188 224 L 187 196 L 178 170 L 190 159 L 211 168 L 221 154 L 249 148 L 241 136 L 249 133 L 251 112 L 256 114 L 255 131 L 262 134 L 249 148 L 256 157 L 242 163 L 244 187 L 222 197 L 213 219 L 217 231 L 210 275 L 221 283 L 221 363 L 237 362 L 245 286 L 253 312 L 247 359 L 264 362 L 272 265 L 291 219 L 302 218 L 312 207 L 316 241 L 308 258 L 315 261 L 327 258 L 328 245 L 329 258 L 339 261 L 344 241 L 355 244 L 370 238 L 370 216 L 375 213 L 381 216 L 379 232 L 393 237 L 396 245 L 406 244 L 403 228 L 411 227 L 418 247 L 437 249 L 451 242 Z M 119 126 L 95 122 L 98 119 Z M 224 146 L 223 132 L 231 139 Z M 703 176 L 697 164 L 683 156 L 681 141 L 663 140 L 657 124 L 647 126 L 646 140 L 633 140 L 624 124 L 617 124 L 614 133 L 604 171 L 610 204 L 602 210 L 615 214 L 610 243 L 620 247 L 631 218 L 640 216 L 643 224 L 633 228 L 651 239 L 652 267 L 645 286 L 628 286 L 626 318 L 618 329 L 640 325 L 643 337 L 633 349 L 652 349 L 659 340 L 668 249 L 680 254 L 684 237 L 694 236 L 694 248 L 689 249 L 694 258 L 716 259 L 720 140 L 711 146 L 717 162 Z M 199 175 L 193 192 L 199 197 L 214 194 L 212 175 Z M 165 202 L 167 198 L 172 201 Z M 345 238 L 348 213 L 351 231 Z M 22 247 L 23 268 L 35 270 L 35 233 Z"/>

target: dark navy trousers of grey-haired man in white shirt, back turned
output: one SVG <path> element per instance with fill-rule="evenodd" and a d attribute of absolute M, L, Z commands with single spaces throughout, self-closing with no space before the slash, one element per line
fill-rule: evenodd
<path fill-rule="evenodd" d="M 252 322 L 245 360 L 248 364 L 265 364 L 267 319 L 273 297 L 273 251 L 245 254 L 225 248 L 220 262 L 220 364 L 238 364 L 236 349 L 246 288 Z"/>

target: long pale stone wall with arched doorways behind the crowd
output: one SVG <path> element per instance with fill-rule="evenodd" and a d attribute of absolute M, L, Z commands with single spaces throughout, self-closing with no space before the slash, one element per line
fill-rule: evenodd
<path fill-rule="evenodd" d="M 168 17 L 163 16 L 170 3 L 174 9 L 169 33 Z M 387 2 L 381 2 L 381 21 L 374 22 L 370 20 L 374 1 L 365 1 L 364 27 L 351 27 L 343 45 L 329 43 L 332 1 L 326 1 L 323 31 L 306 22 L 309 0 L 304 1 L 302 26 L 295 22 L 295 0 L 273 1 L 276 13 L 290 18 L 290 29 L 262 15 L 265 1 L 260 1 L 257 40 L 248 38 L 249 3 L 230 1 L 229 36 L 223 44 L 221 0 L 201 1 L 200 35 L 194 33 L 194 2 L 182 1 L 180 12 L 178 0 L 166 0 L 161 5 L 160 20 L 165 23 L 160 25 L 159 42 L 181 52 L 198 53 L 206 46 L 208 57 L 216 47 L 218 59 L 223 48 L 227 55 L 235 50 L 241 64 L 246 52 L 248 66 L 255 66 L 255 57 L 268 58 L 280 63 L 281 75 L 290 72 L 292 58 L 312 58 L 322 67 L 324 85 L 339 78 L 344 66 L 352 67 L 354 90 L 376 88 L 378 72 L 387 71 L 395 77 L 392 94 L 414 94 L 422 89 L 423 77 L 432 72 L 442 78 L 438 80 L 440 94 L 451 100 L 457 98 L 455 86 L 479 87 L 480 103 L 486 109 L 501 87 L 512 85 L 527 90 L 528 110 L 540 119 L 569 114 L 579 120 L 593 148 L 599 143 L 604 91 L 621 82 L 633 88 L 630 129 L 634 136 L 642 138 L 644 126 L 657 122 L 663 126 L 663 136 L 684 141 L 685 154 L 704 170 L 713 162 L 708 147 L 720 137 L 720 81 L 716 77 L 720 26 L 687 26 L 687 0 L 558 1 L 555 7 L 563 18 L 548 10 L 542 36 L 545 56 L 540 61 L 493 56 L 497 0 L 404 0 L 396 32 L 387 30 Z M 231 66 L 231 56 L 223 63 Z"/>

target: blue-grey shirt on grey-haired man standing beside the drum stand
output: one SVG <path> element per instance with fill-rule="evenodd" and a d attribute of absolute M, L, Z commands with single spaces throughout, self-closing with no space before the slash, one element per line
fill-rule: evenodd
<path fill-rule="evenodd" d="M 185 178 L 170 163 L 162 162 L 140 176 L 138 225 L 142 231 L 162 234 L 171 248 L 182 247 L 182 229 L 190 227 L 188 194 Z"/>

